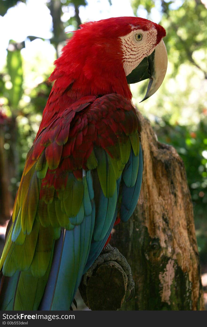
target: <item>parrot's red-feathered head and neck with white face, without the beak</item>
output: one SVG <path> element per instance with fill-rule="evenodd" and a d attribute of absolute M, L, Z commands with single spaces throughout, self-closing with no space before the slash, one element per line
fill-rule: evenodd
<path fill-rule="evenodd" d="M 141 42 L 135 39 L 137 33 L 142 35 Z M 55 61 L 56 68 L 50 76 L 55 83 L 43 121 L 53 116 L 50 111 L 61 112 L 83 96 L 118 93 L 130 100 L 126 75 L 152 53 L 165 34 L 162 26 L 139 17 L 116 17 L 81 25 Z"/>

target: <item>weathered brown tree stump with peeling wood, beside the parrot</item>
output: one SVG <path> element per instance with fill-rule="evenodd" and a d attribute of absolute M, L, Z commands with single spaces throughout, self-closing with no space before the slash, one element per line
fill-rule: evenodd
<path fill-rule="evenodd" d="M 204 310 L 184 163 L 172 146 L 157 141 L 149 121 L 140 113 L 138 117 L 144 166 L 141 193 L 135 212 L 127 223 L 115 226 L 110 242 L 126 257 L 135 282 L 135 295 L 121 310 Z M 104 272 L 99 278 L 106 279 Z M 87 305 L 92 308 L 97 297 L 103 302 L 106 298 L 89 282 L 95 296 Z M 102 307 L 99 301 L 95 310 Z"/>

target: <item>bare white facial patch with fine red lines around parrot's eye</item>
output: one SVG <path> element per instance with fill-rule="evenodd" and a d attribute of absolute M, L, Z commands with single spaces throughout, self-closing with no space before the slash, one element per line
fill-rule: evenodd
<path fill-rule="evenodd" d="M 142 35 L 140 41 L 136 40 L 136 34 Z M 124 71 L 127 76 L 145 57 L 154 51 L 157 42 L 157 30 L 154 26 L 148 31 L 134 29 L 120 39 L 122 41 Z"/>

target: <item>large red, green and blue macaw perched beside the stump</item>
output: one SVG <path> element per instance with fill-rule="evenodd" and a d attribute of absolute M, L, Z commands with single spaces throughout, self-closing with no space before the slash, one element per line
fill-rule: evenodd
<path fill-rule="evenodd" d="M 70 310 L 82 276 L 132 215 L 140 194 L 141 125 L 129 84 L 164 80 L 164 27 L 140 17 L 86 22 L 53 83 L 8 223 L 1 310 Z"/>

